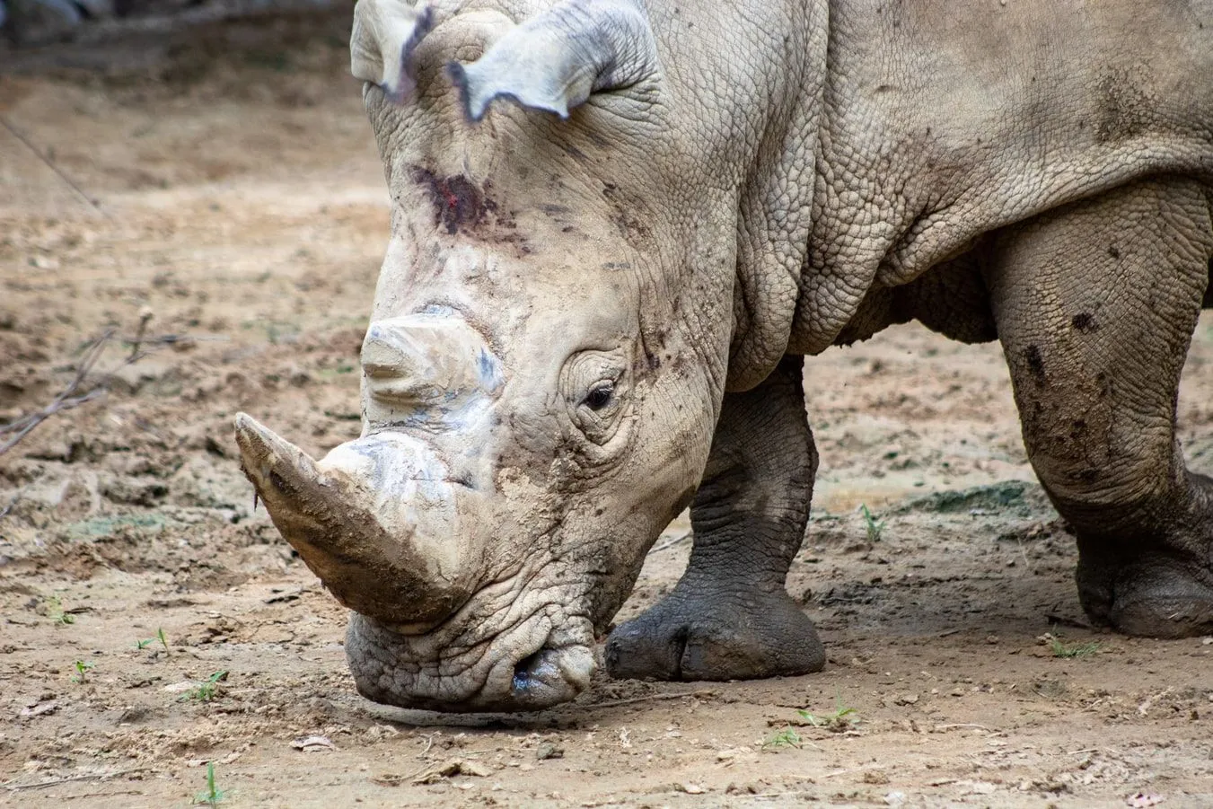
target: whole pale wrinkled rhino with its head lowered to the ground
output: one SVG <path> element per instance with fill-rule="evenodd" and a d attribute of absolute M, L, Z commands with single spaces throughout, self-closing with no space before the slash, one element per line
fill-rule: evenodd
<path fill-rule="evenodd" d="M 364 695 L 573 697 L 691 500 L 690 565 L 608 670 L 820 668 L 784 589 L 801 355 L 910 319 L 1002 341 L 1090 617 L 1213 629 L 1213 482 L 1174 429 L 1213 2 L 360 0 L 352 49 L 393 199 L 363 437 L 238 438 L 354 610 Z"/>

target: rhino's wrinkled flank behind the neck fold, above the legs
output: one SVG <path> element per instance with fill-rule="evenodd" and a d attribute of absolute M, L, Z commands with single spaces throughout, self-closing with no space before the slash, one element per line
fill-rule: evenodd
<path fill-rule="evenodd" d="M 792 347 L 873 286 L 1137 177 L 1213 178 L 1213 1 L 831 4 Z"/>

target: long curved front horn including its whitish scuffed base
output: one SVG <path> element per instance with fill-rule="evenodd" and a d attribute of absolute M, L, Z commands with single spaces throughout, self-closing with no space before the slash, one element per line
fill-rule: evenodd
<path fill-rule="evenodd" d="M 450 536 L 454 502 L 442 489 L 420 489 L 427 482 L 417 479 L 408 438 L 361 438 L 317 462 L 245 414 L 235 435 L 244 473 L 283 539 L 344 606 L 423 632 L 467 600 L 460 559 L 427 553 L 434 543 L 426 534 Z"/>

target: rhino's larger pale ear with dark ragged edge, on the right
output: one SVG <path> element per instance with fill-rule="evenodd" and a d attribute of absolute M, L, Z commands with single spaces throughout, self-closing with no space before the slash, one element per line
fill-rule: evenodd
<path fill-rule="evenodd" d="M 509 98 L 568 118 L 596 90 L 655 76 L 656 41 L 639 6 L 639 0 L 565 0 L 511 29 L 475 62 L 449 63 L 465 114 L 478 121 L 495 98 Z"/>

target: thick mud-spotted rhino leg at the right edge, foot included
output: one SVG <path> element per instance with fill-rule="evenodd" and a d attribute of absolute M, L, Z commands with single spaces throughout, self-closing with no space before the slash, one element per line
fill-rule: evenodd
<path fill-rule="evenodd" d="M 1208 189 L 1146 181 L 1015 228 L 986 272 L 1032 467 L 1078 537 L 1087 615 L 1213 629 L 1213 480 L 1175 435 L 1208 285 Z"/>

